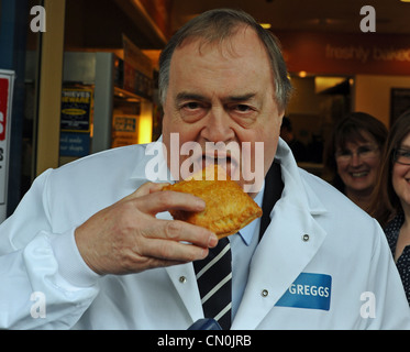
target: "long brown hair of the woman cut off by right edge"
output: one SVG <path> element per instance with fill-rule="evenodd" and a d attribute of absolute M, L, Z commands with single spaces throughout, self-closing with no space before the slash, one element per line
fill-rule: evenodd
<path fill-rule="evenodd" d="M 392 187 L 392 166 L 395 152 L 410 133 L 410 110 L 401 114 L 389 132 L 383 152 L 377 184 L 372 197 L 369 213 L 386 227 L 398 212 L 402 211 L 399 197 Z"/>

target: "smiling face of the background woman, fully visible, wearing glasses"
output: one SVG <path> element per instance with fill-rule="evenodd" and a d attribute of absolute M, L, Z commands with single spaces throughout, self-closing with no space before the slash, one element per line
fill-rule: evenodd
<path fill-rule="evenodd" d="M 336 148 L 337 174 L 345 193 L 372 193 L 380 164 L 380 150 L 376 140 L 363 131 L 364 141 L 347 142 Z"/>

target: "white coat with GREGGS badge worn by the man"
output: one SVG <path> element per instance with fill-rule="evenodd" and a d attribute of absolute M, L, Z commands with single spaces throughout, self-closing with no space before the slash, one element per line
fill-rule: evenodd
<path fill-rule="evenodd" d="M 192 264 L 100 277 L 75 245 L 76 227 L 146 182 L 154 145 L 106 151 L 35 180 L 0 227 L 0 328 L 187 329 L 203 317 Z M 285 188 L 232 329 L 408 329 L 409 306 L 378 223 L 299 169 L 282 141 L 276 157 Z M 164 160 L 157 170 L 166 173 Z M 279 304 L 284 295 L 290 304 Z M 328 309 L 314 308 L 323 298 Z"/>

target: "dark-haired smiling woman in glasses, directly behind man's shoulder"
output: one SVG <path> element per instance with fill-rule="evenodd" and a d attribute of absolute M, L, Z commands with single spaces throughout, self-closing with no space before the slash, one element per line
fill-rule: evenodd
<path fill-rule="evenodd" d="M 324 155 L 333 186 L 366 211 L 386 138 L 387 129 L 379 120 L 353 112 L 335 125 Z"/>

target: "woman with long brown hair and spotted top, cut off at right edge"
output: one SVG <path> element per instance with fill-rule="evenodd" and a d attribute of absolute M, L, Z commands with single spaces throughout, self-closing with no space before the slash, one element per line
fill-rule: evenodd
<path fill-rule="evenodd" d="M 370 213 L 385 229 L 410 304 L 410 110 L 387 139 Z"/>

